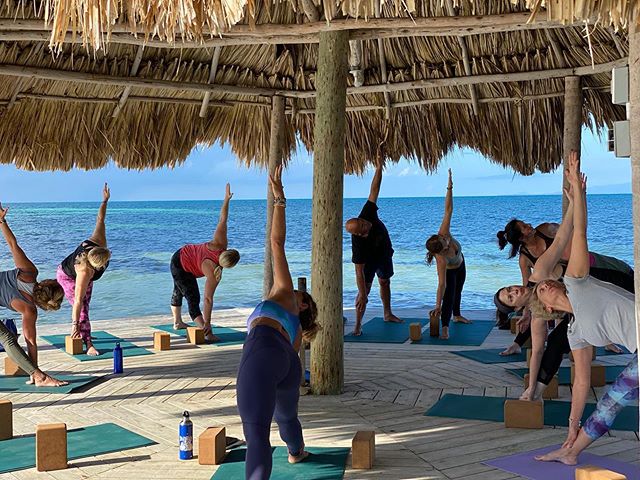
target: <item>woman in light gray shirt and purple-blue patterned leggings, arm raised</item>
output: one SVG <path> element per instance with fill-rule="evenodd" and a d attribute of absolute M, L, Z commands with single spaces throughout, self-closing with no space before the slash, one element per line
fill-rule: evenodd
<path fill-rule="evenodd" d="M 573 194 L 574 229 L 564 284 L 555 280 L 540 282 L 529 306 L 536 316 L 557 318 L 565 312 L 574 315 L 567 332 L 576 369 L 569 432 L 562 448 L 536 458 L 575 465 L 578 455 L 610 429 L 617 414 L 626 405 L 637 401 L 638 355 L 635 295 L 589 275 L 586 178 L 579 171 L 577 155 L 569 159 L 567 177 Z M 622 344 L 636 354 L 580 428 L 590 389 L 591 346 L 607 343 Z"/>

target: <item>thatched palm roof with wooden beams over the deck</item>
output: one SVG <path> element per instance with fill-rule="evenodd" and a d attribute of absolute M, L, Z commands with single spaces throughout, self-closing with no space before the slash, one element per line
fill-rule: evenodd
<path fill-rule="evenodd" d="M 264 165 L 273 95 L 287 98 L 286 151 L 297 139 L 311 149 L 327 28 L 356 27 L 362 46 L 364 85 L 349 77 L 348 172 L 365 168 L 387 132 L 389 160 L 426 170 L 466 146 L 524 174 L 549 171 L 571 74 L 582 76 L 585 125 L 624 117 L 608 88 L 611 67 L 626 63 L 625 31 L 585 29 L 573 23 L 579 10 L 553 16 L 539 1 L 393 1 L 377 20 L 375 0 L 14 1 L 0 7 L 0 162 L 24 169 L 172 166 L 216 142 Z M 605 3 L 595 13 L 607 23 L 636 18 L 635 1 Z"/>

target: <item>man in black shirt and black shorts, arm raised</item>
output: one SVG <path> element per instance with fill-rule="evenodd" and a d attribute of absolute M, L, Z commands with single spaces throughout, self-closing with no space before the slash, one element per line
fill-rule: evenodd
<path fill-rule="evenodd" d="M 362 334 L 362 317 L 367 309 L 373 277 L 378 276 L 384 321 L 402 323 L 391 312 L 391 277 L 393 276 L 393 247 L 389 232 L 378 218 L 378 195 L 382 183 L 382 166 L 376 168 L 371 181 L 369 199 L 358 218 L 347 220 L 345 228 L 351 234 L 351 261 L 356 266 L 356 327 L 353 335 Z"/>

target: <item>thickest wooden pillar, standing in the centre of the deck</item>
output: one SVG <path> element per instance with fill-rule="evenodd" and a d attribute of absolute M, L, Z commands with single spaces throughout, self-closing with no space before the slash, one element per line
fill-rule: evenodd
<path fill-rule="evenodd" d="M 342 199 L 349 33 L 320 33 L 315 84 L 311 294 L 322 330 L 311 343 L 311 389 L 335 395 L 344 383 Z"/>

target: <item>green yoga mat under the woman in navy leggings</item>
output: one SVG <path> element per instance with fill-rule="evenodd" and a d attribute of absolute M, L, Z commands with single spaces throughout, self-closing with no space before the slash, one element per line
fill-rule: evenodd
<path fill-rule="evenodd" d="M 340 480 L 344 476 L 344 466 L 349 448 L 305 447 L 311 454 L 303 462 L 291 465 L 287 461 L 287 448 L 273 449 L 273 470 L 271 480 Z M 237 448 L 227 453 L 211 480 L 244 480 L 245 448 Z"/>

